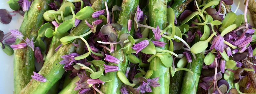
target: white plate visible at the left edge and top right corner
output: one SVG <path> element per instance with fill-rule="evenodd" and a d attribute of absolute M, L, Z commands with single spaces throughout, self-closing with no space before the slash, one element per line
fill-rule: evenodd
<path fill-rule="evenodd" d="M 8 3 L 6 3 L 8 0 L 1 0 L 0 1 L 0 9 L 6 9 L 8 11 L 13 11 Z M 244 13 L 244 1 L 240 0 L 240 8 L 237 11 L 236 14 L 243 14 Z M 235 10 L 238 0 L 234 0 L 234 3 L 232 5 L 231 10 Z M 20 16 L 19 13 L 11 13 L 16 14 L 16 16 L 12 17 L 12 21 L 10 24 L 2 24 L 0 23 L 0 30 L 4 31 L 4 34 L 10 32 L 11 30 L 19 30 L 20 25 L 23 21 L 23 17 Z M 248 11 L 247 14 L 250 14 Z M 252 21 L 250 21 L 250 24 L 252 24 Z M 12 94 L 13 92 L 13 55 L 8 56 L 6 55 L 3 50 L 0 50 L 0 94 Z"/>

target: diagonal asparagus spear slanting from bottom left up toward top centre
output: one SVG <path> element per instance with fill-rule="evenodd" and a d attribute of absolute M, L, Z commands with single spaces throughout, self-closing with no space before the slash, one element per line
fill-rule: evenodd
<path fill-rule="evenodd" d="M 92 8 L 94 11 L 102 10 L 103 3 L 106 0 L 98 0 L 95 3 L 93 3 Z M 111 0 L 108 0 L 109 3 Z M 102 7 L 100 7 L 102 6 Z M 95 19 L 92 17 L 88 17 L 85 20 L 88 22 L 93 22 Z M 86 25 L 85 21 L 81 21 L 80 24 L 76 28 L 74 28 L 70 32 L 70 36 L 79 36 L 82 35 L 91 29 Z M 84 38 L 88 38 L 89 36 L 85 36 Z M 75 39 L 72 43 L 77 44 L 78 39 Z M 44 76 L 49 82 L 39 82 L 36 80 L 31 80 L 27 86 L 20 92 L 21 94 L 45 94 L 49 91 L 49 89 L 55 84 L 63 75 L 65 72 L 65 69 L 63 69 L 63 64 L 59 64 L 59 62 L 62 60 L 60 56 L 66 55 L 72 52 L 75 52 L 75 47 L 72 43 L 62 45 L 60 49 L 52 56 L 52 58 L 44 63 L 43 68 L 39 71 L 39 73 Z"/>

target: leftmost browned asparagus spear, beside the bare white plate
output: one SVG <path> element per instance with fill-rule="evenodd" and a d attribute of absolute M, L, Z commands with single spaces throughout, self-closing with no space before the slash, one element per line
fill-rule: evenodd
<path fill-rule="evenodd" d="M 35 41 L 37 31 L 43 24 L 43 14 L 50 9 L 48 4 L 52 0 L 34 0 L 30 9 L 25 12 L 24 20 L 20 26 L 20 32 L 23 34 L 23 39 L 32 39 Z M 16 39 L 15 44 L 25 43 L 23 40 Z M 34 51 L 30 47 L 14 50 L 13 60 L 13 77 L 14 77 L 14 94 L 19 94 L 20 91 L 28 84 L 32 78 L 34 66 Z"/>

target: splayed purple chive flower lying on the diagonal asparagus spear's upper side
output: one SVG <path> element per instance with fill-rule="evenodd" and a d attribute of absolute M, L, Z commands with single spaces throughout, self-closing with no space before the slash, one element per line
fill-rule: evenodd
<path fill-rule="evenodd" d="M 80 56 L 78 53 L 70 53 L 68 55 L 63 55 L 63 56 L 60 56 L 61 58 L 63 58 L 63 60 L 61 60 L 59 63 L 60 64 L 65 64 L 64 65 L 64 68 L 65 67 L 68 67 L 68 65 L 71 65 L 73 62 L 77 62 L 74 58 L 77 57 L 77 56 Z"/>

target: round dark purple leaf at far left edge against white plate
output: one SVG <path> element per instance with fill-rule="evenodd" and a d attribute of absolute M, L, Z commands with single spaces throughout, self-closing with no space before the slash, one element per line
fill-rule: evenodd
<path fill-rule="evenodd" d="M 0 9 L 0 21 L 3 24 L 9 24 L 12 20 L 10 13 L 5 9 Z"/>

